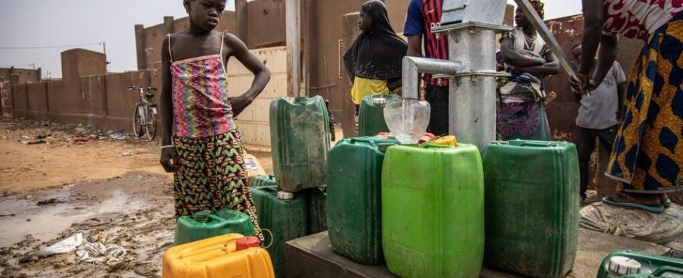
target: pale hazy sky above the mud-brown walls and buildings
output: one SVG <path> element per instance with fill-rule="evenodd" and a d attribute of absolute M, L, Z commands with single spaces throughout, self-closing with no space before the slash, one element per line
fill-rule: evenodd
<path fill-rule="evenodd" d="M 344 1 L 344 0 L 339 0 Z M 477 0 L 485 1 L 485 0 Z M 234 10 L 229 0 L 228 9 Z M 509 2 L 512 2 L 510 0 Z M 581 13 L 581 1 L 546 0 L 546 19 Z M 135 24 L 154 26 L 164 15 L 185 16 L 181 0 L 0 0 L 0 67 L 36 64 L 52 78 L 61 76 L 60 53 L 74 47 L 51 47 L 106 42 L 109 70 L 137 70 Z M 102 51 L 102 45 L 80 46 Z"/>

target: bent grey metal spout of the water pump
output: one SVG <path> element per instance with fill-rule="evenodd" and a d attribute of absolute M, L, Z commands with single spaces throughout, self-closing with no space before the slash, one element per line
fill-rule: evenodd
<path fill-rule="evenodd" d="M 420 73 L 456 74 L 462 69 L 463 63 L 460 61 L 406 56 L 403 58 L 403 77 L 401 79 L 403 97 L 418 98 Z"/>

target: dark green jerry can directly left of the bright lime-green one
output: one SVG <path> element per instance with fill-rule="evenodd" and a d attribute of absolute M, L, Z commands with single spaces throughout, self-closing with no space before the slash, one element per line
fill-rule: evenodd
<path fill-rule="evenodd" d="M 330 150 L 328 234 L 332 250 L 366 265 L 384 263 L 382 163 L 395 139 L 347 138 Z"/>

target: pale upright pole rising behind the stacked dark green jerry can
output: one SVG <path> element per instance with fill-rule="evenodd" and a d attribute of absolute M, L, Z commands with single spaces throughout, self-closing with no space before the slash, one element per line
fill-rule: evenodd
<path fill-rule="evenodd" d="M 287 95 L 300 96 L 300 22 L 299 0 L 287 0 L 286 35 L 287 35 Z"/>

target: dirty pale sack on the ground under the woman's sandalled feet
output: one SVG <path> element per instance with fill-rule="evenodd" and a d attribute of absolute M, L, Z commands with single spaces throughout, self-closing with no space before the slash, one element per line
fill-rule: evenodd
<path fill-rule="evenodd" d="M 683 207 L 671 204 L 663 213 L 595 203 L 580 211 L 581 228 L 650 243 L 668 243 L 683 232 Z"/>

